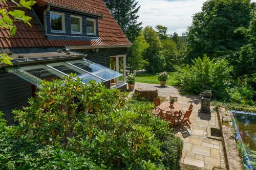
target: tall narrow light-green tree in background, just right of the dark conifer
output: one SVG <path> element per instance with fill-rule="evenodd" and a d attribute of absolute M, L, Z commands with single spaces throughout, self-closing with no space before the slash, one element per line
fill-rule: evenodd
<path fill-rule="evenodd" d="M 162 51 L 162 43 L 157 32 L 152 27 L 147 26 L 143 30 L 143 35 L 150 45 L 143 57 L 144 60 L 148 61 L 146 71 L 157 73 L 164 70 L 166 62 Z"/>

